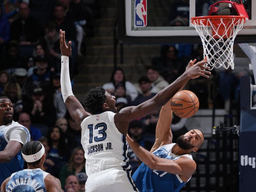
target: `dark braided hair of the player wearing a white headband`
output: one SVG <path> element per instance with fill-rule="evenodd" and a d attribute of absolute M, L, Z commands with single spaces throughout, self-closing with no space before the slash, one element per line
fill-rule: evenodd
<path fill-rule="evenodd" d="M 39 141 L 29 141 L 23 146 L 22 153 L 24 155 L 34 155 L 37 152 L 39 152 L 41 149 L 42 149 L 42 145 Z M 27 162 L 27 164 L 34 167 L 38 165 L 40 161 L 41 161 L 41 158 L 35 162 L 31 162 L 31 163 Z"/>

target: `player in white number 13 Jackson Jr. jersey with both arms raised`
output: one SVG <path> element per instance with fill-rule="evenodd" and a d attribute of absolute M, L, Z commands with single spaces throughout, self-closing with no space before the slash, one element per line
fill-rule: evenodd
<path fill-rule="evenodd" d="M 71 54 L 71 41 L 65 43 L 65 31 L 60 30 L 61 75 L 60 84 L 63 100 L 71 117 L 79 125 L 81 143 L 85 151 L 86 192 L 129 192 L 138 191 L 131 178 L 128 164 L 128 144 L 126 134 L 129 122 L 146 116 L 163 106 L 191 78 L 209 77 L 206 60 L 196 64 L 189 62 L 188 70 L 175 82 L 160 91 L 152 99 L 138 106 L 126 107 L 117 112 L 115 97 L 102 87 L 91 89 L 84 100 L 84 107 L 72 92 L 68 57 Z M 100 77 L 99 77 L 100 78 Z"/>

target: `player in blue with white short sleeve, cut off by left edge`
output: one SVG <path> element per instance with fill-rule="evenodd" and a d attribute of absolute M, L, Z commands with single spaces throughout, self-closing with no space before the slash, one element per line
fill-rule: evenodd
<path fill-rule="evenodd" d="M 12 120 L 12 101 L 0 97 L 0 185 L 12 173 L 23 169 L 21 148 L 30 141 L 26 127 Z"/>

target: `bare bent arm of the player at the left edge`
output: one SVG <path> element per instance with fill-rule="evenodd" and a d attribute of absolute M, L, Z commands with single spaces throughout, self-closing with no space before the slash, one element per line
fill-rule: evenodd
<path fill-rule="evenodd" d="M 0 163 L 10 162 L 19 153 L 23 145 L 18 141 L 9 141 L 3 151 L 0 151 Z"/>

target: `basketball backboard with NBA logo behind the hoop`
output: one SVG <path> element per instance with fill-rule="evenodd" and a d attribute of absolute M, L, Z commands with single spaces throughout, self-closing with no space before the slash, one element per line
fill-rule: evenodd
<path fill-rule="evenodd" d="M 216 0 L 118 1 L 118 35 L 122 43 L 201 43 L 190 18 L 207 16 Z M 249 20 L 235 43 L 256 42 L 255 0 L 243 0 Z"/>

